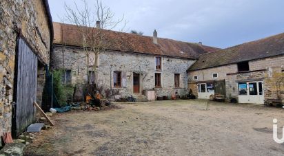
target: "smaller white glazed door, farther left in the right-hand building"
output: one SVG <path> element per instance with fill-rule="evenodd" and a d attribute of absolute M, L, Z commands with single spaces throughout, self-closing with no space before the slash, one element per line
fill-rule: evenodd
<path fill-rule="evenodd" d="M 211 95 L 214 95 L 213 83 L 199 83 L 198 86 L 198 98 L 209 99 Z"/>

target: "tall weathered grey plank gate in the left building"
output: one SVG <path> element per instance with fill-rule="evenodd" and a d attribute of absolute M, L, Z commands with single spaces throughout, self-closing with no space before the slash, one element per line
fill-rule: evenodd
<path fill-rule="evenodd" d="M 32 102 L 36 101 L 37 97 L 37 56 L 23 38 L 18 39 L 17 45 L 14 135 L 25 131 L 26 127 L 34 121 L 36 110 Z"/>

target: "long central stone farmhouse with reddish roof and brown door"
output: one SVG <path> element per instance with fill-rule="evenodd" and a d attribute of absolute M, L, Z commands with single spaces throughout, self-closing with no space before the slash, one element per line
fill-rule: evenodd
<path fill-rule="evenodd" d="M 52 67 L 65 69 L 67 82 L 84 84 L 88 82 L 87 58 L 81 48 L 81 34 L 76 25 L 54 24 L 54 50 Z M 91 28 L 90 28 L 91 29 Z M 99 31 L 98 28 L 92 28 Z M 218 48 L 200 43 L 185 43 L 166 38 L 141 36 L 110 30 L 103 31 L 111 44 L 99 54 L 97 74 L 91 82 L 105 89 L 119 90 L 121 96 L 142 96 L 145 91 L 155 91 L 156 96 L 188 93 L 187 68 L 201 54 L 214 52 Z M 94 60 L 94 58 L 92 59 Z M 92 63 L 92 61 L 90 61 Z M 92 66 L 93 64 L 90 64 Z"/>

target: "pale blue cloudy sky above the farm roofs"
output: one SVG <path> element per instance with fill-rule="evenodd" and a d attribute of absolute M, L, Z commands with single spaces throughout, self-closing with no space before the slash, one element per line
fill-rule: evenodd
<path fill-rule="evenodd" d="M 94 8 L 95 0 L 86 0 Z M 64 3 L 81 8 L 81 0 L 49 0 L 52 20 L 61 22 Z M 123 31 L 171 38 L 213 47 L 231 47 L 284 32 L 283 0 L 102 0 L 114 19 L 127 21 Z M 118 25 L 116 30 L 121 30 Z"/>

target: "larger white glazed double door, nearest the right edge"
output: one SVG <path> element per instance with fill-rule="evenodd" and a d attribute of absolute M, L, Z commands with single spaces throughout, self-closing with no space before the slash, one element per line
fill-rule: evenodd
<path fill-rule="evenodd" d="M 263 82 L 239 82 L 239 103 L 264 104 Z"/>

